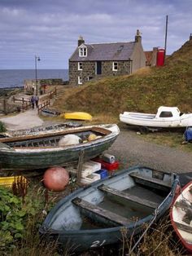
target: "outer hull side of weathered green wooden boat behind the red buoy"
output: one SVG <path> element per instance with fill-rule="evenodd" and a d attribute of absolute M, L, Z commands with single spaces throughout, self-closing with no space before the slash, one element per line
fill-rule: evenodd
<path fill-rule="evenodd" d="M 82 127 L 72 128 L 72 130 L 83 129 Z M 120 130 L 116 125 L 112 125 L 111 129 L 113 131 L 101 139 L 66 147 L 9 148 L 4 147 L 5 144 L 1 143 L 0 139 L 0 168 L 2 170 L 36 170 L 52 166 L 68 166 L 78 162 L 81 151 L 84 152 L 84 160 L 89 160 L 97 157 L 114 143 Z"/>

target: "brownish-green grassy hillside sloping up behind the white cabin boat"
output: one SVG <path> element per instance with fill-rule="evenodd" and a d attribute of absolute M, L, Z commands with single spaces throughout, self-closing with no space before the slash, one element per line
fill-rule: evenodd
<path fill-rule="evenodd" d="M 85 111 L 119 117 L 123 111 L 156 113 L 160 105 L 192 112 L 192 40 L 164 67 L 141 68 L 129 76 L 107 77 L 65 90 L 55 103 L 61 111 Z"/>

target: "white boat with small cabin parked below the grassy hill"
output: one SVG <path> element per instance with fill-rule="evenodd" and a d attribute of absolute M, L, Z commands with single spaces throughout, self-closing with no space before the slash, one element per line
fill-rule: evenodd
<path fill-rule="evenodd" d="M 177 107 L 158 108 L 156 114 L 124 112 L 120 121 L 130 126 L 178 128 L 192 126 L 192 113 L 181 113 Z"/>

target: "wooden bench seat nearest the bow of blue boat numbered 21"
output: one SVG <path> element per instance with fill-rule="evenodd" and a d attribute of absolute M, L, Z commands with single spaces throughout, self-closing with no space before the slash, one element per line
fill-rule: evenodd
<path fill-rule="evenodd" d="M 99 215 L 103 218 L 106 218 L 107 220 L 110 220 L 116 224 L 122 225 L 122 226 L 127 226 L 129 223 L 132 223 L 128 218 L 124 218 L 118 214 L 112 213 L 109 210 L 105 210 L 98 205 L 93 205 L 89 203 L 88 201 L 85 201 L 79 197 L 76 197 L 75 199 L 72 200 L 72 202 L 81 207 L 83 210 L 87 210 L 89 212 L 92 212 L 96 215 Z"/>

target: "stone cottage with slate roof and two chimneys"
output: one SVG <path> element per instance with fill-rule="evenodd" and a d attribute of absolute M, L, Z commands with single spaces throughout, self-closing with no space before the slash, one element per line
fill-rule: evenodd
<path fill-rule="evenodd" d="M 145 66 L 139 30 L 133 42 L 87 44 L 80 37 L 69 59 L 69 83 L 82 85 L 93 78 L 130 74 Z"/>

